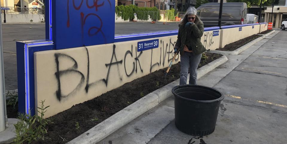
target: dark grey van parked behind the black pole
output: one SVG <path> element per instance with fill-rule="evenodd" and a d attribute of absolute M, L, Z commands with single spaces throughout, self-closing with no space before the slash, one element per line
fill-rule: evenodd
<path fill-rule="evenodd" d="M 220 3 L 206 3 L 197 8 L 204 27 L 218 26 Z M 247 4 L 244 2 L 227 2 L 222 6 L 221 25 L 247 24 Z"/>

